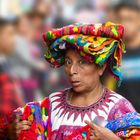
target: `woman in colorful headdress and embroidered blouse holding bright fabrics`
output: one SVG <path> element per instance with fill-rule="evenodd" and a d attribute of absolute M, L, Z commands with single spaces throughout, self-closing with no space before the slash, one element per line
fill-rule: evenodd
<path fill-rule="evenodd" d="M 107 22 L 69 25 L 43 35 L 46 60 L 64 65 L 71 88 L 17 109 L 19 140 L 140 139 L 140 115 L 101 83 L 105 69 L 121 82 L 123 32 L 123 26 Z"/>

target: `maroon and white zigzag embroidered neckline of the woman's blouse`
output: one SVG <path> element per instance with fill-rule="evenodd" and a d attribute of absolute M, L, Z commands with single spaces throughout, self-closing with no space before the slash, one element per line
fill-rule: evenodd
<path fill-rule="evenodd" d="M 66 89 L 52 96 L 52 98 L 56 97 L 56 99 L 52 101 L 52 104 L 54 102 L 57 102 L 57 105 L 55 106 L 53 111 L 57 110 L 56 116 L 58 117 L 64 117 L 65 114 L 68 113 L 67 119 L 69 119 L 71 115 L 74 114 L 73 121 L 75 121 L 79 115 L 81 116 L 81 121 L 83 121 L 85 114 L 87 114 L 88 117 L 92 119 L 91 118 L 92 112 L 94 112 L 98 116 L 99 110 L 102 110 L 107 114 L 106 109 L 104 107 L 109 108 L 108 103 L 114 102 L 110 97 L 112 96 L 116 97 L 115 95 L 110 94 L 111 92 L 107 88 L 104 88 L 104 93 L 102 94 L 102 97 L 97 102 L 89 106 L 79 107 L 79 106 L 71 105 L 67 102 L 68 90 L 69 89 Z"/>

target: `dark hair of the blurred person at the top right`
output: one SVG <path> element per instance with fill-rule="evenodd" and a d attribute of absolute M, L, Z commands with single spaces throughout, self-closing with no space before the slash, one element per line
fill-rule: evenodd
<path fill-rule="evenodd" d="M 140 5 L 138 0 L 120 0 L 117 4 L 112 7 L 115 11 L 119 11 L 122 8 L 129 8 L 140 12 Z"/>

